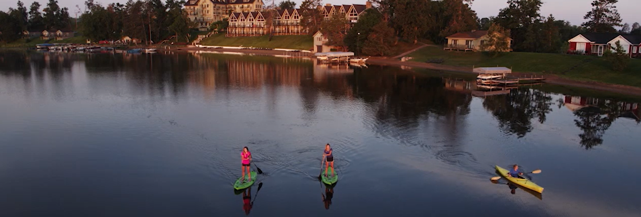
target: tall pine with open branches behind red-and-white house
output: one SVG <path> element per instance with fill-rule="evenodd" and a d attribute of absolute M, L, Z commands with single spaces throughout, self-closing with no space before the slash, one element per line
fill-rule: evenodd
<path fill-rule="evenodd" d="M 615 27 L 621 25 L 621 16 L 616 4 L 619 0 L 595 0 L 592 2 L 592 10 L 585 14 L 587 19 L 581 26 L 584 26 L 592 33 L 615 33 Z"/>

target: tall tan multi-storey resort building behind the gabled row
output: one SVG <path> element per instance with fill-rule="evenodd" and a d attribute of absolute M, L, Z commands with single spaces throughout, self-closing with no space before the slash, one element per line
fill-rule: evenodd
<path fill-rule="evenodd" d="M 200 31 L 207 31 L 213 22 L 228 19 L 231 13 L 260 12 L 262 0 L 188 0 L 185 11 Z"/>

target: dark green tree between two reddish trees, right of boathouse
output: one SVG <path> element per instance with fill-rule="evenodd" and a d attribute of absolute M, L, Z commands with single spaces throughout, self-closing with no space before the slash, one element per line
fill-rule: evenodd
<path fill-rule="evenodd" d="M 345 36 L 345 45 L 349 51 L 354 51 L 360 54 L 363 48 L 363 43 L 367 40 L 369 33 L 372 31 L 376 24 L 381 22 L 382 15 L 375 9 L 367 9 L 365 13 L 358 18 L 358 22 L 349 29 Z M 392 34 L 394 31 L 392 30 Z M 394 37 L 392 37 L 394 39 Z"/>

